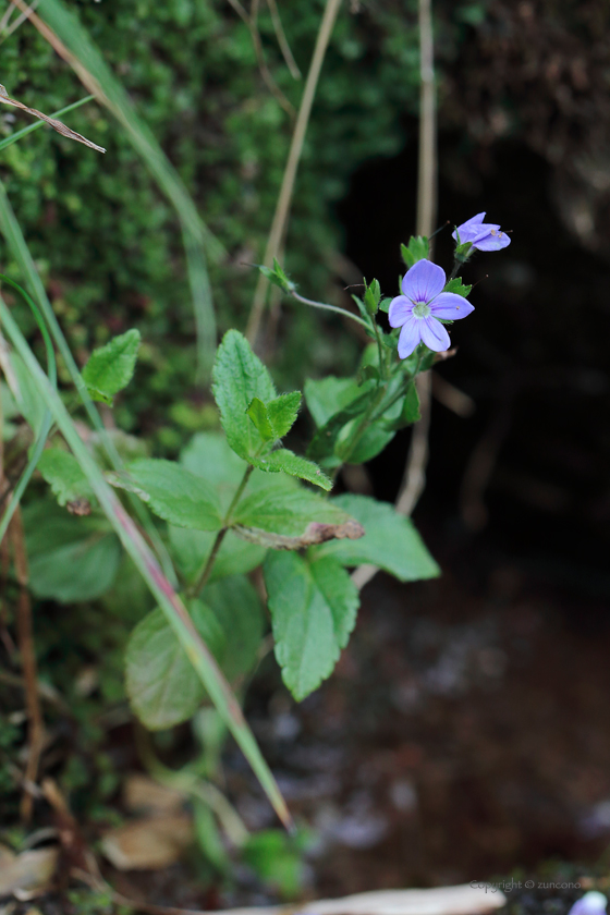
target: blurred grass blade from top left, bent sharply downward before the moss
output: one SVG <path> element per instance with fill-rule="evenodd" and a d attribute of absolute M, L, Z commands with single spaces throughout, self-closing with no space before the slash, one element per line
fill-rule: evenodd
<path fill-rule="evenodd" d="M 27 9 L 24 0 L 15 0 L 15 3 L 22 11 Z M 217 259 L 223 254 L 222 245 L 202 221 L 188 192 L 155 135 L 135 111 L 125 89 L 76 15 L 65 8 L 62 0 L 42 0 L 38 13 L 29 14 L 30 22 L 72 66 L 83 85 L 122 124 L 133 147 L 178 213 L 197 328 L 198 371 L 202 379 L 206 378 L 216 349 L 216 319 L 205 248 L 207 246 L 209 256 Z"/>

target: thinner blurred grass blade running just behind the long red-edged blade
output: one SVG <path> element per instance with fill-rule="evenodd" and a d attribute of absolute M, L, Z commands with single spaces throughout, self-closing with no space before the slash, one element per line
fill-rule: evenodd
<path fill-rule="evenodd" d="M 42 313 L 42 316 L 47 322 L 47 326 L 51 332 L 51 337 L 56 341 L 56 345 L 63 358 L 65 367 L 70 374 L 70 377 L 83 401 L 89 419 L 91 420 L 94 428 L 99 432 L 100 440 L 102 446 L 106 450 L 108 459 L 114 469 L 120 471 L 123 466 L 119 452 L 114 447 L 114 442 L 108 435 L 108 431 L 101 422 L 101 417 L 98 413 L 98 410 L 94 402 L 89 396 L 89 392 L 87 386 L 83 381 L 81 373 L 78 370 L 78 366 L 74 362 L 74 357 L 68 345 L 68 341 L 63 335 L 61 327 L 59 326 L 59 321 L 54 316 L 54 312 L 51 308 L 51 303 L 48 300 L 47 292 L 38 276 L 38 271 L 36 270 L 36 266 L 29 253 L 29 248 L 23 237 L 23 232 L 21 231 L 21 227 L 15 218 L 13 209 L 11 207 L 10 200 L 7 196 L 7 192 L 2 182 L 0 181 L 0 232 L 4 235 L 7 240 L 7 244 L 11 249 L 13 257 L 27 283 L 29 286 L 29 291 L 33 293 L 35 302 L 38 303 L 38 307 Z M 136 513 L 138 520 L 141 521 L 143 527 L 146 529 L 146 533 L 150 537 L 150 541 L 152 542 L 155 550 L 157 551 L 157 556 L 159 557 L 161 564 L 163 566 L 163 572 L 169 577 L 170 582 L 175 585 L 178 578 L 175 576 L 175 572 L 173 569 L 173 564 L 171 558 L 167 551 L 167 548 L 159 537 L 157 528 L 152 524 L 150 520 L 150 515 L 148 514 L 147 509 L 145 508 L 144 503 L 139 501 L 136 497 L 130 498 L 130 501 L 133 505 L 133 510 Z"/>

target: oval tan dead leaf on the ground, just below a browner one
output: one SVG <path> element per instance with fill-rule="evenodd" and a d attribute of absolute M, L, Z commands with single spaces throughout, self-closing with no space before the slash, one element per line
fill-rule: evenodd
<path fill-rule="evenodd" d="M 118 870 L 161 870 L 181 857 L 193 838 L 187 814 L 146 817 L 106 832 L 101 850 Z"/>

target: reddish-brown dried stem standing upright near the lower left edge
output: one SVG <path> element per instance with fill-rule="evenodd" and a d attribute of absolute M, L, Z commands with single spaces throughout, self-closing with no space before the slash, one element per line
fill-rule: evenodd
<path fill-rule="evenodd" d="M 28 723 L 28 753 L 25 767 L 24 781 L 36 782 L 38 774 L 38 761 L 45 740 L 45 725 L 38 695 L 38 674 L 36 667 L 36 652 L 34 649 L 34 633 L 32 625 L 32 603 L 27 589 L 27 553 L 25 550 L 25 537 L 21 510 L 17 509 L 11 520 L 9 536 L 13 547 L 13 560 L 15 575 L 20 587 L 17 599 L 17 643 L 23 668 L 25 685 L 25 708 Z M 33 800 L 28 791 L 24 791 L 21 800 L 21 817 L 28 822 L 32 817 Z"/>

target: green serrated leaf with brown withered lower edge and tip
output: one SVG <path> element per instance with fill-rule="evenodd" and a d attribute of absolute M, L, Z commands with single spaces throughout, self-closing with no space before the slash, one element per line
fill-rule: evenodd
<path fill-rule="evenodd" d="M 330 537 L 362 536 L 362 527 L 346 512 L 306 489 L 293 492 L 261 489 L 254 492 L 240 502 L 233 521 L 241 537 L 277 549 L 297 549 Z M 273 535 L 279 540 L 277 544 L 272 538 L 257 540 L 256 532 Z M 281 542 L 282 538 L 286 544 Z M 289 540 L 293 542 L 289 544 Z"/>

